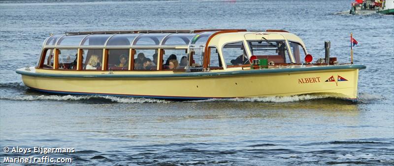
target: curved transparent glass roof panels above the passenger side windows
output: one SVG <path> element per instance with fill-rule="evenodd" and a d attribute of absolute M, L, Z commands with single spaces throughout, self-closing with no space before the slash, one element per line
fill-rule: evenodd
<path fill-rule="evenodd" d="M 202 33 L 116 33 L 116 34 L 56 34 L 48 37 L 44 47 L 130 47 L 130 46 L 188 46 L 192 39 L 214 32 Z M 196 43 L 197 44 L 197 43 Z M 205 44 L 205 43 L 204 43 Z"/>

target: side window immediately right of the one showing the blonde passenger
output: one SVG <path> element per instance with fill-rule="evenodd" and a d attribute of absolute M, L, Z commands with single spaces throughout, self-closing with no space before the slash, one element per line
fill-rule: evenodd
<path fill-rule="evenodd" d="M 109 70 L 128 70 L 129 69 L 130 49 L 108 49 Z"/>

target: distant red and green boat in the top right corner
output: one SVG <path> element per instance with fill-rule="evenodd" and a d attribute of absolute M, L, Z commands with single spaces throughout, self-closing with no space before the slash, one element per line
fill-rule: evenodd
<path fill-rule="evenodd" d="M 394 0 L 356 0 L 350 14 L 394 14 Z"/>

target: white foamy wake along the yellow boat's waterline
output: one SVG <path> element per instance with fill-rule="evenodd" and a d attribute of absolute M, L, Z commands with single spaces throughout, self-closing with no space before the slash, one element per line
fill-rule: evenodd
<path fill-rule="evenodd" d="M 30 90 L 22 82 L 0 83 L 1 95 L 0 99 L 4 100 L 57 100 L 57 101 L 91 101 L 93 103 L 168 103 L 175 102 L 169 100 L 147 99 L 147 98 L 127 98 L 114 96 L 78 96 L 78 95 L 48 95 Z M 16 93 L 18 92 L 18 93 Z M 208 100 L 193 100 L 184 102 L 296 102 L 304 100 L 321 100 L 334 99 L 346 100 L 340 98 L 333 98 L 329 95 L 296 95 L 289 97 L 256 97 L 256 98 L 229 98 L 229 99 L 208 99 Z M 368 93 L 359 93 L 358 102 L 370 102 L 372 100 L 384 99 L 383 96 Z"/>

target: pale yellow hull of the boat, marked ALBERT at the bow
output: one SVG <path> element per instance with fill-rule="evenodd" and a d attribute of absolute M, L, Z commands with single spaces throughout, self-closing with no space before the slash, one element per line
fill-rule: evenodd
<path fill-rule="evenodd" d="M 93 74 L 76 77 L 71 74 L 27 72 L 22 69 L 18 69 L 17 72 L 22 74 L 26 86 L 38 91 L 59 94 L 179 100 L 319 94 L 354 100 L 357 99 L 360 68 L 362 66 L 328 67 L 319 70 L 313 70 L 312 67 L 306 71 L 301 68 L 216 73 L 171 72 L 172 74 L 140 74 L 140 77 L 132 74 Z"/>

